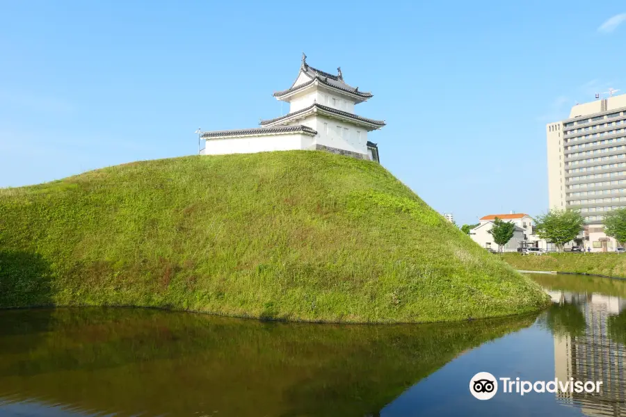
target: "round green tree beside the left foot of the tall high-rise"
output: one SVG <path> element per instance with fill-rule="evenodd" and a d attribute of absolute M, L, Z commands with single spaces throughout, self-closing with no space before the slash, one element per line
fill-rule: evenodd
<path fill-rule="evenodd" d="M 563 252 L 563 245 L 574 240 L 580 233 L 584 219 L 577 211 L 554 208 L 535 220 L 536 234 L 554 243 Z"/>

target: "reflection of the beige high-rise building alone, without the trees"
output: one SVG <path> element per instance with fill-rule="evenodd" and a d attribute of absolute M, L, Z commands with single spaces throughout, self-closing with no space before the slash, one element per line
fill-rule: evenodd
<path fill-rule="evenodd" d="M 557 398 L 586 416 L 626 416 L 626 347 L 611 340 L 607 329 L 607 318 L 625 309 L 625 301 L 572 293 L 561 293 L 561 301 L 579 307 L 586 327 L 580 336 L 554 336 L 554 374 L 561 381 L 602 381 L 602 388 L 600 393 L 557 393 Z"/>

